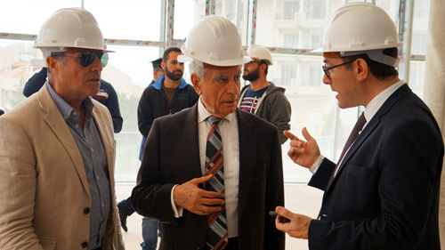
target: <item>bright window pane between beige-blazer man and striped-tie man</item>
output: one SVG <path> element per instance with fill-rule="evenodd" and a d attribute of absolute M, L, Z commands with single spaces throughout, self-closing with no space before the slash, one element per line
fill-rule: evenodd
<path fill-rule="evenodd" d="M 150 61 L 159 58 L 158 47 L 111 45 L 109 65 L 101 77 L 112 84 L 117 92 L 124 124 L 115 134 L 116 181 L 134 181 L 141 165 L 139 151 L 142 134 L 137 122 L 137 107 L 142 92 L 153 79 Z"/>

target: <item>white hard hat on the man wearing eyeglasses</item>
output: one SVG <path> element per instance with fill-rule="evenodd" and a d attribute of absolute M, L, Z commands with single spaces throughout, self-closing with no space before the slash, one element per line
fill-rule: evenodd
<path fill-rule="evenodd" d="M 349 56 L 374 51 L 376 58 L 371 60 L 390 65 L 396 62 L 388 62 L 381 51 L 402 44 L 394 22 L 383 9 L 369 3 L 351 3 L 336 10 L 325 29 L 323 47 L 312 52 Z"/>

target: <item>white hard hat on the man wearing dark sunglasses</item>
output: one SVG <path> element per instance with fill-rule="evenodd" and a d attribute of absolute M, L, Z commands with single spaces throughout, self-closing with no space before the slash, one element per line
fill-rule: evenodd
<path fill-rule="evenodd" d="M 67 47 L 106 50 L 101 32 L 91 12 L 81 8 L 61 9 L 44 21 L 35 48 L 44 52 L 66 51 Z"/>

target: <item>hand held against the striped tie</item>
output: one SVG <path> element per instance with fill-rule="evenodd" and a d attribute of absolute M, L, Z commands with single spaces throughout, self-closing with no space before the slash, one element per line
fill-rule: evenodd
<path fill-rule="evenodd" d="M 174 188 L 174 204 L 182 206 L 193 214 L 207 215 L 223 210 L 222 193 L 201 190 L 198 185 L 210 181 L 213 174 L 195 178 Z"/>

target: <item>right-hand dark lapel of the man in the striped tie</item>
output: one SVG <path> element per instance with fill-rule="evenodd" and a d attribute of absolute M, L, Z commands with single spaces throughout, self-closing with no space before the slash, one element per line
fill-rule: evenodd
<path fill-rule="evenodd" d="M 255 132 L 255 122 L 247 113 L 237 109 L 239 127 L 239 209 L 244 211 L 247 196 L 252 191 L 253 174 L 256 165 L 256 145 L 258 133 Z M 254 149 L 254 150 L 252 150 Z M 242 181 L 240 181 L 242 180 Z"/>

